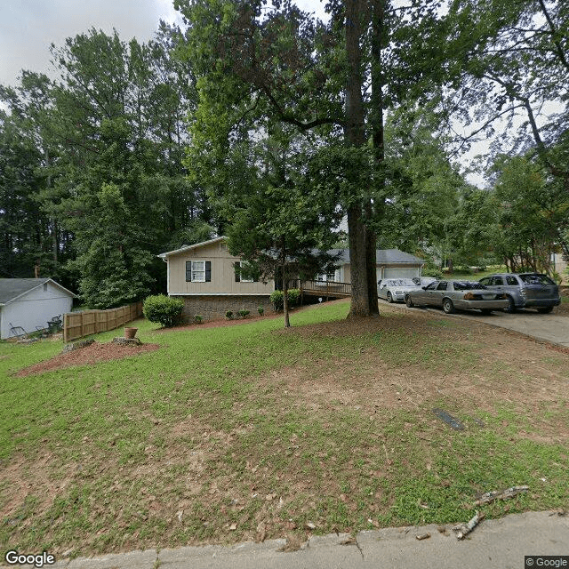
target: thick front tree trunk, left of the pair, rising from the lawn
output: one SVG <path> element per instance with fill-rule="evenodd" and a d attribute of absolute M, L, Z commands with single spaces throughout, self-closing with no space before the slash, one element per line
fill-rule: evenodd
<path fill-rule="evenodd" d="M 364 105 L 362 101 L 362 36 L 361 19 L 365 13 L 363 0 L 346 0 L 346 54 L 348 70 L 346 76 L 346 120 L 344 138 L 346 144 L 362 147 L 365 144 Z M 349 172 L 357 180 L 357 172 Z M 359 191 L 356 188 L 355 191 Z M 372 314 L 370 306 L 367 236 L 365 213 L 361 200 L 356 200 L 348 208 L 349 266 L 351 273 L 352 301 L 350 317 L 367 317 Z M 373 278 L 375 281 L 375 277 Z M 373 287 L 375 290 L 375 286 Z M 377 298 L 375 300 L 377 306 Z"/>

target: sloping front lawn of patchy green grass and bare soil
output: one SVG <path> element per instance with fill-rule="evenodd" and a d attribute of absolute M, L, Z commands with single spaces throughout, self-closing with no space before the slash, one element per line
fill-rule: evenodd
<path fill-rule="evenodd" d="M 466 521 L 477 494 L 512 485 L 530 489 L 488 517 L 569 503 L 567 353 L 421 310 L 348 309 L 303 309 L 288 330 L 139 321 L 160 349 L 25 377 L 61 342 L 0 344 L 3 549 Z"/>

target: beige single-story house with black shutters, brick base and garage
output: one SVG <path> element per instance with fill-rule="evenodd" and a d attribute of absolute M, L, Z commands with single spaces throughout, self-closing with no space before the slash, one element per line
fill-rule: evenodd
<path fill-rule="evenodd" d="M 349 250 L 341 252 L 339 267 L 334 275 L 321 275 L 317 280 L 349 283 Z M 270 309 L 270 294 L 275 282 L 245 279 L 236 272 L 239 257 L 228 251 L 227 237 L 220 236 L 184 245 L 180 249 L 158 255 L 166 263 L 167 293 L 184 301 L 184 315 L 189 319 L 223 317 L 228 310 L 244 309 L 256 314 L 262 306 Z M 424 261 L 397 249 L 377 252 L 378 280 L 390 276 L 421 276 Z"/>

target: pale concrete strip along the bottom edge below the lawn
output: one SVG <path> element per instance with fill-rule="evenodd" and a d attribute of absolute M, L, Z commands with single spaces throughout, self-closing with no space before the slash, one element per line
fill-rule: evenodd
<path fill-rule="evenodd" d="M 279 551 L 285 541 L 272 540 L 233 547 L 148 549 L 58 561 L 49 566 L 58 569 L 524 569 L 531 566 L 525 565 L 525 556 L 569 556 L 569 517 L 555 512 L 528 512 L 483 520 L 462 541 L 451 528 L 452 525 L 426 525 L 374 530 L 357 533 L 357 539 L 351 541 L 348 534 L 334 533 L 312 537 L 293 552 Z M 417 535 L 426 533 L 429 537 L 417 539 Z M 569 557 L 566 560 L 567 565 L 548 566 L 569 567 Z"/>

